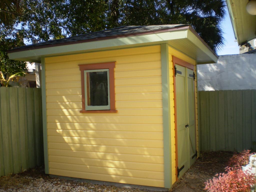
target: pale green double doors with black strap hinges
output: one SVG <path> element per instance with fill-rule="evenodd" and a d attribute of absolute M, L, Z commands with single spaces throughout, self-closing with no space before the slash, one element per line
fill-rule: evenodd
<path fill-rule="evenodd" d="M 196 161 L 195 86 L 193 70 L 176 66 L 177 144 L 180 178 Z"/>

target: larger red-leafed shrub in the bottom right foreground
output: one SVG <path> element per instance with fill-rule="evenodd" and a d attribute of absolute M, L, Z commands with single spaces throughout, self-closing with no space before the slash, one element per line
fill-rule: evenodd
<path fill-rule="evenodd" d="M 256 182 L 255 176 L 244 173 L 242 169 L 226 168 L 226 173 L 215 175 L 205 184 L 205 190 L 209 192 L 245 192 L 250 191 Z"/>

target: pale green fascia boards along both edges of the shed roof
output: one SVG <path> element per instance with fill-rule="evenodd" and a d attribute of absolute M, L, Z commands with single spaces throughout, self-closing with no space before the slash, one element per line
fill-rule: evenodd
<path fill-rule="evenodd" d="M 191 34 L 193 35 L 191 35 Z M 190 34 L 190 35 L 188 35 Z M 189 36 L 189 37 L 188 37 Z M 175 30 L 154 31 L 153 33 L 144 33 L 137 35 L 129 35 L 125 37 L 113 37 L 97 39 L 94 41 L 77 42 L 67 45 L 48 46 L 44 48 L 10 51 L 8 56 L 10 59 L 40 62 L 43 57 L 77 54 L 82 52 L 93 52 L 138 46 L 156 45 L 168 43 L 172 40 L 188 39 L 198 44 L 202 51 L 209 57 L 209 62 L 216 62 L 218 56 L 211 48 L 199 37 L 199 35 L 189 26 L 176 28 Z"/>

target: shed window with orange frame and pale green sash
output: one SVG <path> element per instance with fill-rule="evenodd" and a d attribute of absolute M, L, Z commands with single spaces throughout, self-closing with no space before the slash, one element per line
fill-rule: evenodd
<path fill-rule="evenodd" d="M 82 86 L 81 113 L 117 112 L 115 110 L 115 62 L 79 65 Z"/>

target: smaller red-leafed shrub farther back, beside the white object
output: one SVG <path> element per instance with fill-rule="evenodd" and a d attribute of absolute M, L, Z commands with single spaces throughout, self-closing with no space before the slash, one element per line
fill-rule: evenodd
<path fill-rule="evenodd" d="M 228 166 L 233 168 L 241 168 L 249 163 L 249 158 L 252 155 L 251 150 L 244 150 L 241 153 L 234 154 L 228 162 Z"/>

